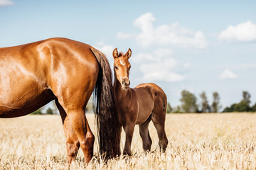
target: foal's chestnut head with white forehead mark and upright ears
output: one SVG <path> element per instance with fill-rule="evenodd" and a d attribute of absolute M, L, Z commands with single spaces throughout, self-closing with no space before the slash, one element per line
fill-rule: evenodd
<path fill-rule="evenodd" d="M 122 85 L 123 89 L 129 88 L 129 69 L 131 64 L 129 63 L 129 57 L 132 55 L 132 50 L 129 49 L 124 55 L 122 52 L 118 52 L 117 48 L 113 51 L 114 57 L 114 74 L 117 77 L 117 80 Z"/>

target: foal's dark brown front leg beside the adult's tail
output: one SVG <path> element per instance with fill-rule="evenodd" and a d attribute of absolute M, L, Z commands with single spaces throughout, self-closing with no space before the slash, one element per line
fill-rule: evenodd
<path fill-rule="evenodd" d="M 125 132 L 125 144 L 124 144 L 124 154 L 132 155 L 131 144 L 132 144 L 132 136 L 134 132 L 134 125 L 126 125 L 124 126 Z"/>

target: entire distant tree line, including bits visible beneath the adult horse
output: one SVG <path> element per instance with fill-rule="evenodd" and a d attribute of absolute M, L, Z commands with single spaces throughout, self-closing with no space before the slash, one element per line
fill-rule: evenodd
<path fill-rule="evenodd" d="M 189 91 L 181 91 L 181 106 L 171 107 L 170 103 L 167 103 L 166 113 L 226 113 L 226 112 L 256 112 L 256 103 L 250 106 L 250 94 L 248 91 L 242 91 L 242 100 L 239 103 L 233 103 L 231 106 L 224 108 L 220 111 L 222 106 L 220 105 L 220 96 L 218 92 L 213 92 L 213 101 L 209 103 L 206 96 L 206 92 L 203 91 L 199 94 L 201 101 L 198 103 L 198 99 L 194 94 Z M 85 113 L 93 113 L 92 96 L 90 97 Z M 58 114 L 56 106 L 53 108 L 39 108 L 34 111 L 34 115 L 53 115 Z"/>

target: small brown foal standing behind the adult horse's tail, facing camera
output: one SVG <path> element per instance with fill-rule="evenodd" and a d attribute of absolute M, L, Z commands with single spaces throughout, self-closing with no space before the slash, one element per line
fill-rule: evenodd
<path fill-rule="evenodd" d="M 134 126 L 139 125 L 139 135 L 142 137 L 144 151 L 151 149 L 149 122 L 152 120 L 159 137 L 159 147 L 165 151 L 168 140 L 164 131 L 167 98 L 164 91 L 153 83 L 139 84 L 134 89 L 129 88 L 129 49 L 124 55 L 113 51 L 114 57 L 114 94 L 117 98 L 117 115 L 126 133 L 124 154 L 131 155 L 132 135 Z"/>

